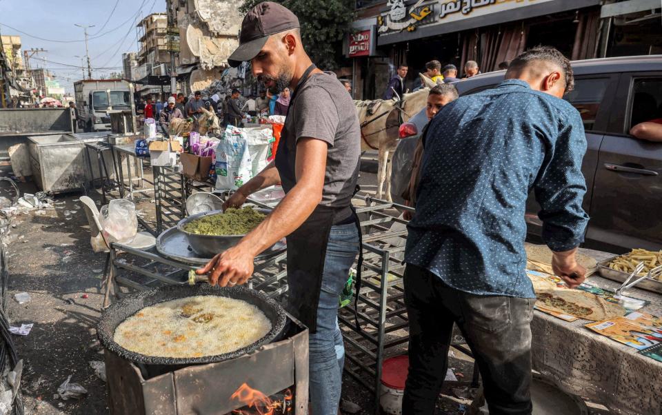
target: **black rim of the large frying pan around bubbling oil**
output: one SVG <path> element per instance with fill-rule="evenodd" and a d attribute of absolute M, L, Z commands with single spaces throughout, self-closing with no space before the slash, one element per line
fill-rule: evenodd
<path fill-rule="evenodd" d="M 257 306 L 271 321 L 271 331 L 265 334 L 265 336 L 259 339 L 259 341 L 252 343 L 252 345 L 235 350 L 234 352 L 193 358 L 145 356 L 143 354 L 126 350 L 112 339 L 115 328 L 117 328 L 119 323 L 145 307 L 162 303 L 163 301 L 201 295 L 236 298 Z M 265 294 L 261 292 L 251 290 L 247 287 L 212 287 L 208 284 L 198 284 L 193 286 L 167 285 L 165 287 L 132 294 L 112 303 L 112 305 L 101 314 L 101 320 L 97 325 L 97 336 L 99 336 L 99 341 L 101 341 L 103 347 L 106 347 L 110 352 L 117 354 L 121 358 L 126 358 L 134 363 L 142 363 L 144 365 L 199 365 L 236 358 L 242 354 L 257 349 L 257 347 L 260 347 L 261 345 L 278 340 L 285 330 L 285 321 L 285 311 L 276 301 L 268 298 L 268 296 L 265 296 Z"/>

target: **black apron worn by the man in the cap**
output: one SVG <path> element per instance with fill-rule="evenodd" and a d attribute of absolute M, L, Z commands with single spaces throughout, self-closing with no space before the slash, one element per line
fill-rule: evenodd
<path fill-rule="evenodd" d="M 315 69 L 310 65 L 303 73 L 297 88 L 290 97 L 290 114 L 297 100 L 297 92 L 308 81 L 308 76 Z M 275 165 L 281 177 L 285 193 L 294 188 L 297 176 L 294 163 L 297 156 L 297 137 L 294 135 L 294 117 L 287 117 L 278 143 Z M 289 124 L 289 125 L 288 125 Z M 294 317 L 308 327 L 310 333 L 317 332 L 317 305 L 322 287 L 322 274 L 326 259 L 326 247 L 329 241 L 331 227 L 334 223 L 343 222 L 354 215 L 353 207 L 329 207 L 317 205 L 301 226 L 287 236 L 288 242 L 288 302 L 285 308 Z M 344 223 L 344 222 L 343 222 Z M 361 227 L 359 227 L 359 236 Z M 359 261 L 361 256 L 359 243 Z M 357 280 L 360 281 L 360 267 Z M 360 284 L 357 283 L 357 289 Z"/>

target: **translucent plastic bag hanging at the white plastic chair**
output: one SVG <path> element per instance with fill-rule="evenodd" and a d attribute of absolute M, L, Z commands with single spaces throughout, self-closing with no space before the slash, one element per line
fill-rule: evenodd
<path fill-rule="evenodd" d="M 101 207 L 99 223 L 108 243 L 129 243 L 138 232 L 136 205 L 126 199 L 114 199 Z"/>

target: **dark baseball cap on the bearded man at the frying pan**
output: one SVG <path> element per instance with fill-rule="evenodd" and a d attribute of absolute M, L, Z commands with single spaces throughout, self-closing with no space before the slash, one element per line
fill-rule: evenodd
<path fill-rule="evenodd" d="M 272 34 L 299 27 L 299 19 L 288 8 L 272 1 L 259 3 L 243 18 L 239 48 L 232 52 L 228 63 L 237 68 L 241 62 L 256 57 Z"/>

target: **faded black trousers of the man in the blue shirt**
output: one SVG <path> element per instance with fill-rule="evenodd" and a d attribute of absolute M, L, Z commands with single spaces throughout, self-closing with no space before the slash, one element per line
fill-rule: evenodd
<path fill-rule="evenodd" d="M 453 323 L 478 363 L 490 414 L 530 414 L 534 298 L 469 294 L 411 264 L 404 283 L 410 341 L 403 415 L 434 414 Z"/>

